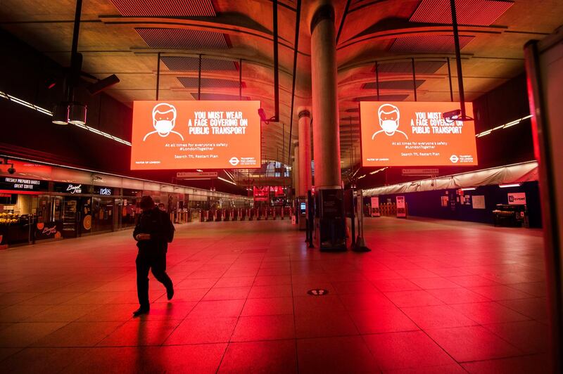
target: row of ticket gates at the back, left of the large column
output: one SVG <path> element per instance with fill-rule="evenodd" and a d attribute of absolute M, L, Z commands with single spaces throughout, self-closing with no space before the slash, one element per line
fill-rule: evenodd
<path fill-rule="evenodd" d="M 199 220 L 201 222 L 260 221 L 261 219 L 290 218 L 291 214 L 292 208 L 290 207 L 215 209 L 202 210 Z"/>

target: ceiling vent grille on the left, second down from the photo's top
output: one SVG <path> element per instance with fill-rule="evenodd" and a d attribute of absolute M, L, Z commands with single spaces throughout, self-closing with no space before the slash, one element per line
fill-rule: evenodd
<path fill-rule="evenodd" d="M 153 49 L 229 49 L 225 34 L 213 31 L 166 28 L 135 28 Z"/>

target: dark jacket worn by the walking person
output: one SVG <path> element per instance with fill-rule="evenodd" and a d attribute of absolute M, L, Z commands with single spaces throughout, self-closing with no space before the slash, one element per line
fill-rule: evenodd
<path fill-rule="evenodd" d="M 137 226 L 133 230 L 133 238 L 139 233 L 148 233 L 151 234 L 151 239 L 138 241 L 139 251 L 166 252 L 168 249 L 167 234 L 170 231 L 170 226 L 172 226 L 170 217 L 158 207 L 141 213 Z"/>

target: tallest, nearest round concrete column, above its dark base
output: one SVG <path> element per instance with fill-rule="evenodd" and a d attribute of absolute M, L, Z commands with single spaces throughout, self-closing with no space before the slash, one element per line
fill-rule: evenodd
<path fill-rule="evenodd" d="M 315 187 L 341 188 L 334 8 L 322 1 L 311 20 Z"/>

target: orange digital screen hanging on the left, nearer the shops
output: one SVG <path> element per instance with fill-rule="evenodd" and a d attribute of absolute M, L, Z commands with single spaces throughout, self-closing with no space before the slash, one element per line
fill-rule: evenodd
<path fill-rule="evenodd" d="M 131 169 L 260 167 L 260 101 L 134 101 Z"/>

